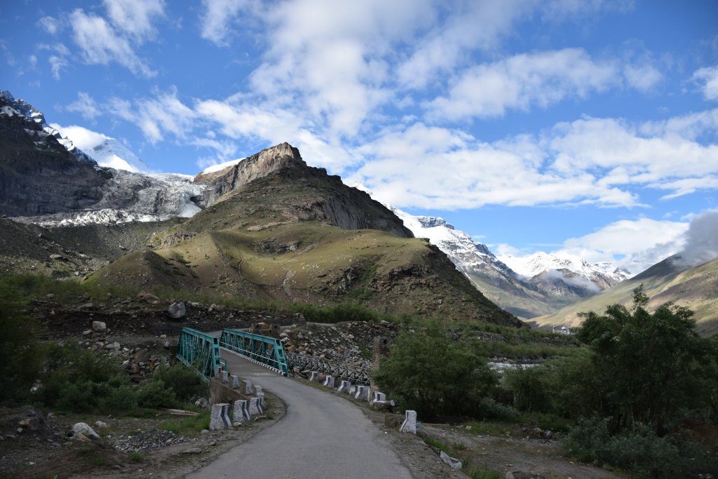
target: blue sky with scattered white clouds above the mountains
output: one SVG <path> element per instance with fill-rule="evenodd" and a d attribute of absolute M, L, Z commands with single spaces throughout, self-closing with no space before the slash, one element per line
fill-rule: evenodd
<path fill-rule="evenodd" d="M 717 220 L 716 1 L 2 1 L 0 65 L 151 171 L 288 141 L 499 254 L 638 273 Z"/>

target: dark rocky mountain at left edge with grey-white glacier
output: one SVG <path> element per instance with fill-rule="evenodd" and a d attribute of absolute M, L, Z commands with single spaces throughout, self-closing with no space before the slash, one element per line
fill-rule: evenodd
<path fill-rule="evenodd" d="M 7 150 L 22 152 L 5 155 L 6 168 L 0 171 L 2 213 L 18 221 L 123 223 L 192 216 L 200 210 L 195 200 L 206 185 L 195 183 L 193 177 L 101 167 L 48 125 L 41 111 L 6 91 L 0 92 L 0 138 Z M 111 148 L 98 152 L 104 152 L 105 159 L 122 155 L 139 160 L 121 144 L 114 147 L 112 153 Z"/>

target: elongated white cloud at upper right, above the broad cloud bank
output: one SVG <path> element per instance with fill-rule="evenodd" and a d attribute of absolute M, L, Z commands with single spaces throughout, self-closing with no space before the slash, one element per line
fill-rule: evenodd
<path fill-rule="evenodd" d="M 515 55 L 470 68 L 447 97 L 427 106 L 434 116 L 450 120 L 546 108 L 566 97 L 585 97 L 615 85 L 616 70 L 611 62 L 596 62 L 580 48 Z"/>

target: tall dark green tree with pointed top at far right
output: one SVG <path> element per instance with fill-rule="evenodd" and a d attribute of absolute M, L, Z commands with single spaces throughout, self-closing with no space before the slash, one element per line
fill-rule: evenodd
<path fill-rule="evenodd" d="M 586 398 L 617 432 L 640 422 L 663 434 L 681 409 L 704 398 L 710 350 L 695 332 L 693 312 L 667 303 L 653 314 L 635 289 L 633 307 L 613 304 L 603 316 L 582 313 L 578 338 L 592 350 L 591 381 L 600 389 Z"/>

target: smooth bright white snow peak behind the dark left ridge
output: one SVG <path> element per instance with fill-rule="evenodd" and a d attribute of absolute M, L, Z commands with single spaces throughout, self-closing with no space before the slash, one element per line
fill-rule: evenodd
<path fill-rule="evenodd" d="M 82 126 L 50 125 L 67 136 L 75 146 L 88 154 L 101 167 L 149 173 L 149 167 L 121 141 Z"/>

